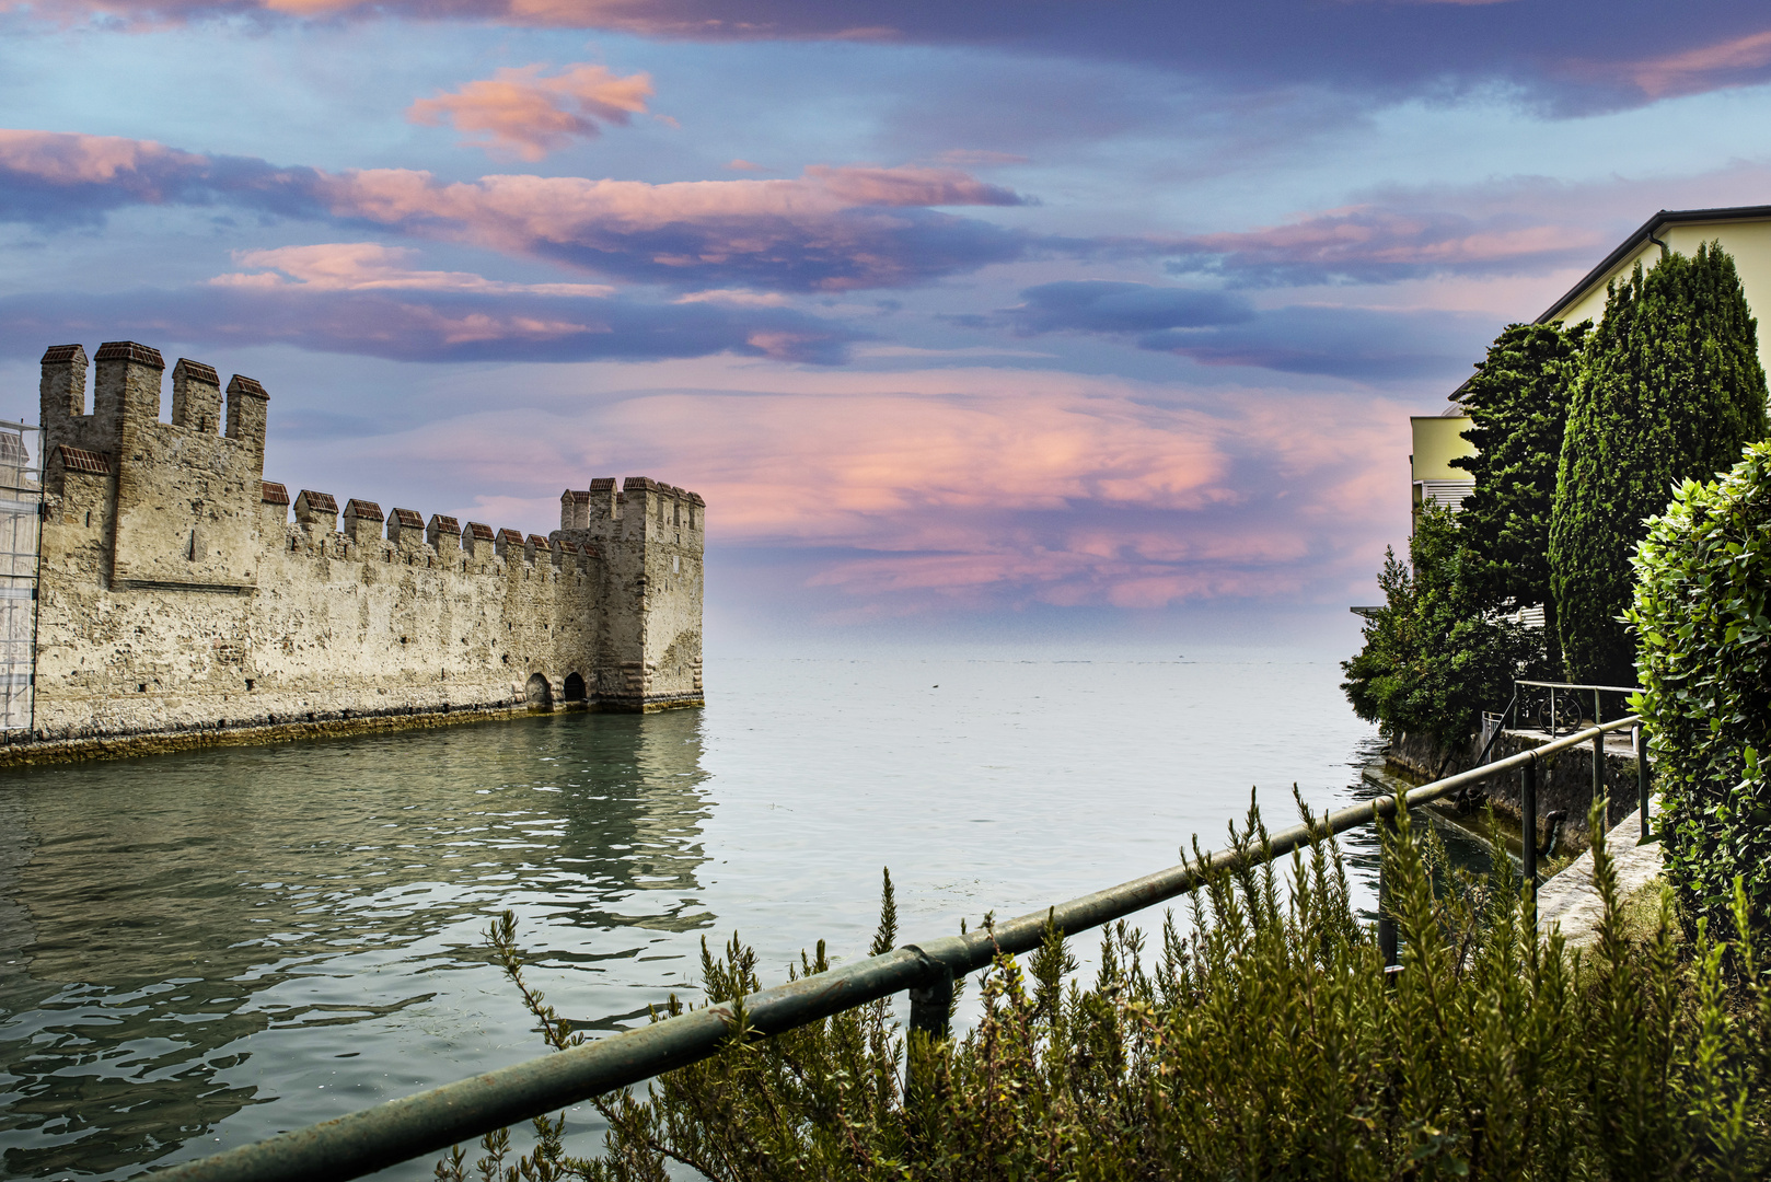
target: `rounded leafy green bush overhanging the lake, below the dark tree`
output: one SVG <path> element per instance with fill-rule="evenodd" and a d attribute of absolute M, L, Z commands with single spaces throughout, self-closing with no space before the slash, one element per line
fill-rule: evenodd
<path fill-rule="evenodd" d="M 1410 565 L 1385 553 L 1383 606 L 1365 643 L 1341 665 L 1353 711 L 1392 732 L 1470 739 L 1484 707 L 1505 704 L 1512 679 L 1543 672 L 1543 633 L 1495 618 L 1459 579 L 1458 519 L 1427 505 L 1408 539 Z"/>

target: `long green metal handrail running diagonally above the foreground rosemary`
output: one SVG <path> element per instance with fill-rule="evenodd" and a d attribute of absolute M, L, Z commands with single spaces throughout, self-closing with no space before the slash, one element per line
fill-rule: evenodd
<path fill-rule="evenodd" d="M 1585 743 L 1606 730 L 1633 727 L 1638 719 L 1620 718 L 1546 743 L 1541 748 L 1413 789 L 1410 808 L 1436 801 L 1458 789 L 1479 783 L 1514 767 L 1535 762 L 1564 748 Z M 988 966 L 997 953 L 1032 952 L 1045 937 L 1047 923 L 1073 936 L 1112 923 L 1158 902 L 1185 895 L 1211 874 L 1259 865 L 1280 854 L 1344 833 L 1378 819 L 1396 815 L 1397 797 L 1380 796 L 1339 812 L 1326 813 L 1314 826 L 1293 826 L 1268 835 L 1266 845 L 1247 854 L 1213 851 L 1203 861 L 1169 867 L 1119 886 L 1082 895 L 1056 907 L 1034 911 L 1006 923 L 967 936 L 944 936 L 905 945 L 878 957 L 832 968 L 786 985 L 762 989 L 744 998 L 744 1015 L 763 1035 L 779 1035 L 825 1017 L 910 992 L 910 1028 L 942 1033 L 955 978 Z M 1535 812 L 1535 810 L 1532 810 Z M 1535 852 L 1535 824 L 1530 824 L 1525 849 Z M 1527 874 L 1527 883 L 1532 883 Z M 1380 888 L 1381 890 L 1381 888 Z M 1535 907 L 1534 907 L 1535 914 Z M 1535 925 L 1535 918 L 1534 918 Z M 1381 921 L 1380 921 L 1381 929 Z M 1380 943 L 1383 941 L 1380 930 Z M 1394 927 L 1387 959 L 1394 960 Z M 306 1129 L 280 1132 L 253 1145 L 151 1171 L 154 1182 L 306 1182 L 310 1178 L 360 1178 L 375 1170 L 436 1154 L 471 1141 L 494 1129 L 519 1124 L 641 1083 L 715 1054 L 733 1024 L 731 1005 L 689 1010 L 661 1023 L 620 1035 L 586 1042 L 568 1051 L 489 1070 L 469 1079 L 418 1092 L 375 1108 L 367 1108 Z"/>

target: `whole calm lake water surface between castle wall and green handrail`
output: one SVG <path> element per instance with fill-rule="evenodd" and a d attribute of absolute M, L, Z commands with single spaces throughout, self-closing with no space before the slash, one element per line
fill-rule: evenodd
<path fill-rule="evenodd" d="M 726 659 L 705 711 L 4 773 L 0 1173 L 131 1177 L 540 1054 L 501 907 L 547 999 L 616 1030 L 692 996 L 703 937 L 765 984 L 818 937 L 864 953 L 882 867 L 914 941 L 1218 845 L 1250 785 L 1291 824 L 1293 783 L 1369 794 L 1337 682 L 1250 650 Z"/>

